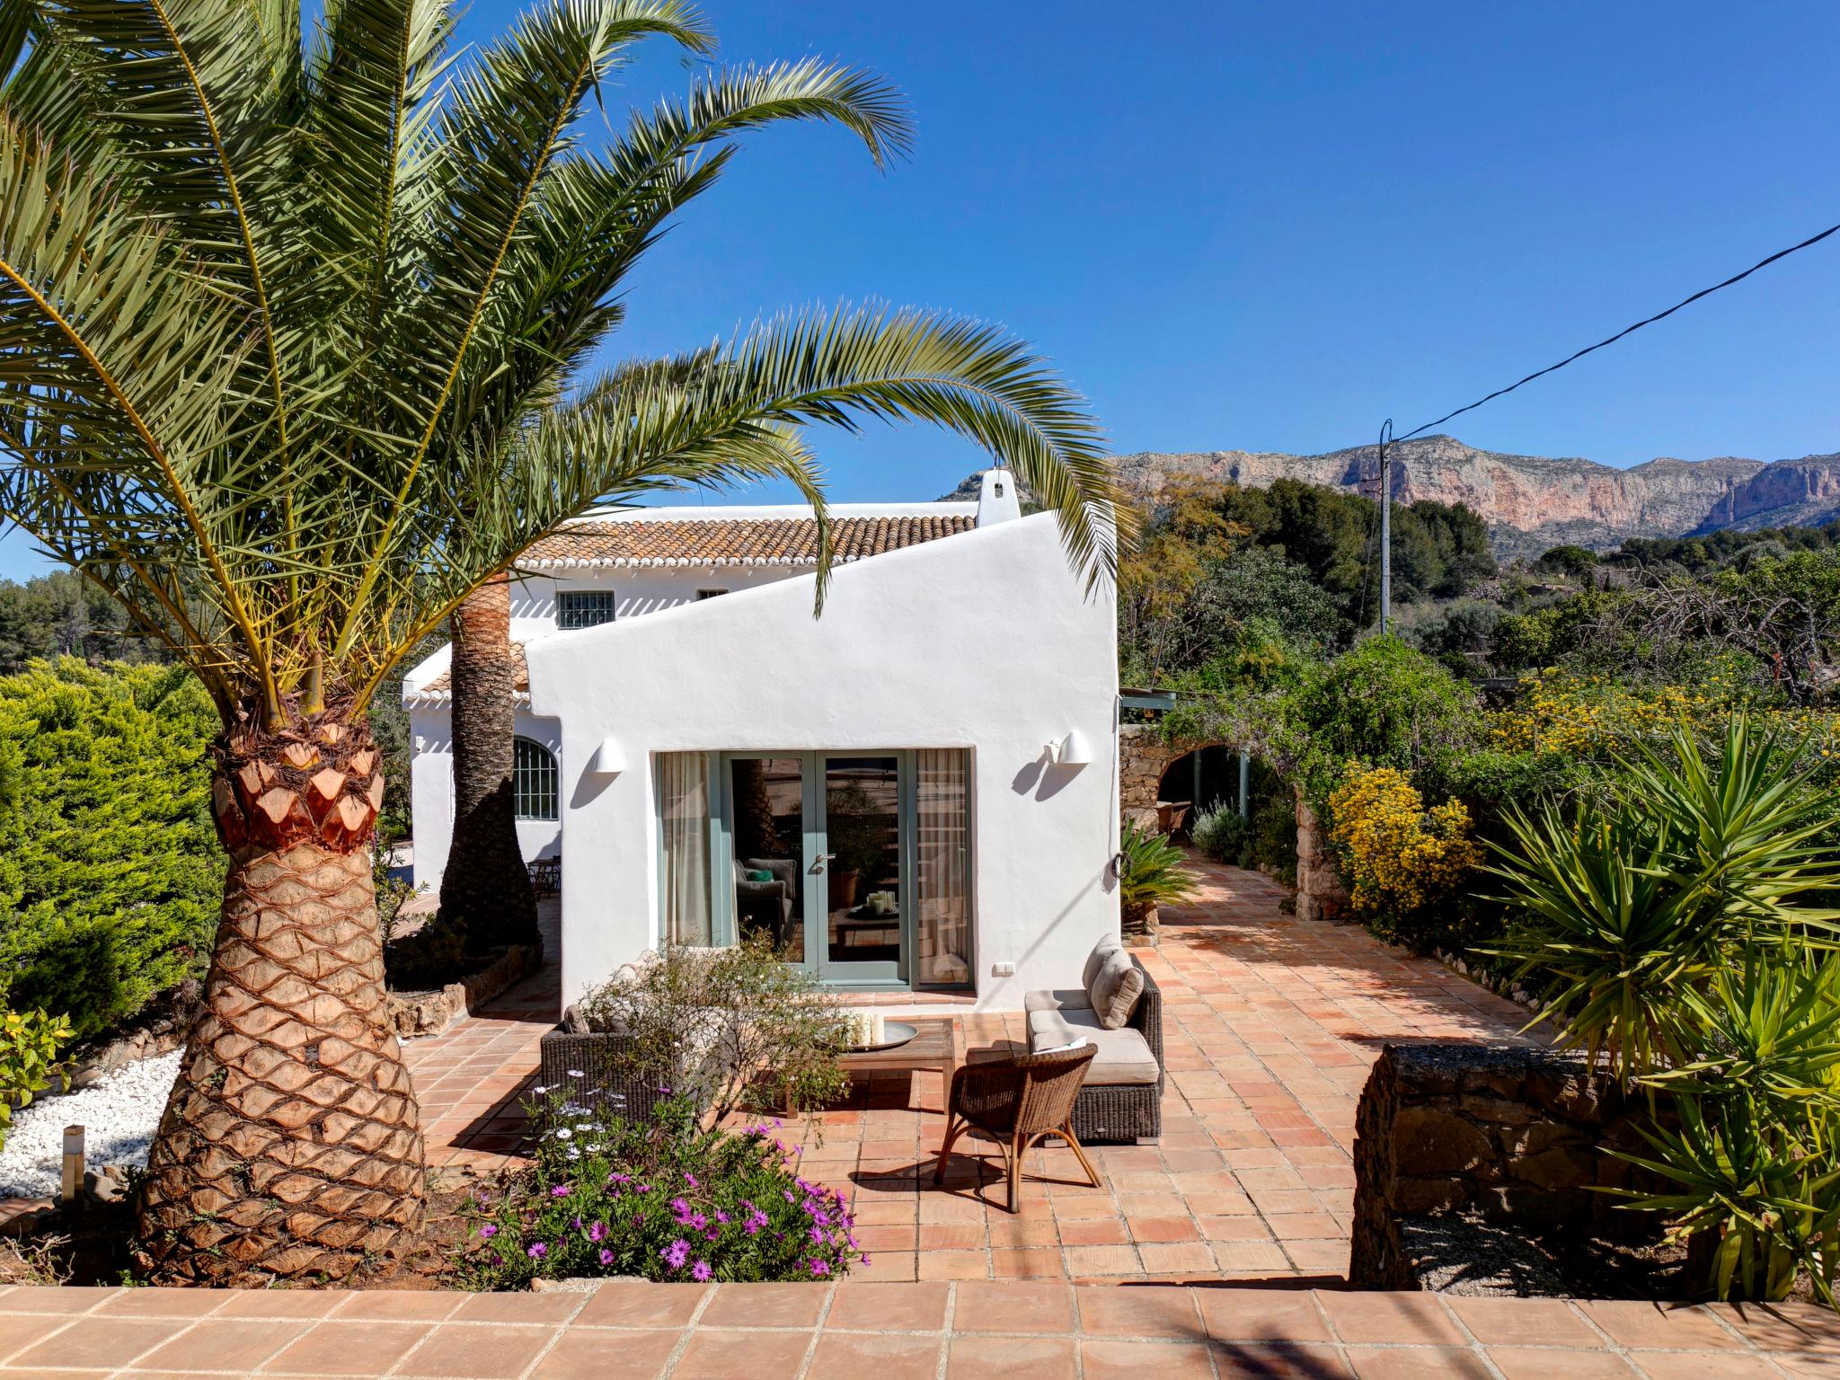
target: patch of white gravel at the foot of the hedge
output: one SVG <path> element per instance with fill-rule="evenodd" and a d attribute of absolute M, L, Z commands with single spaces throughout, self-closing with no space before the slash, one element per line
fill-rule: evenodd
<path fill-rule="evenodd" d="M 35 1097 L 13 1113 L 0 1150 L 0 1198 L 52 1198 L 64 1157 L 64 1126 L 83 1126 L 85 1161 L 145 1165 L 166 1097 L 178 1076 L 182 1049 L 129 1064 L 112 1076 L 64 1097 Z"/>

